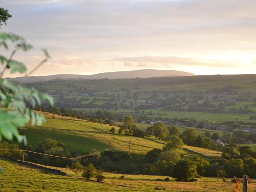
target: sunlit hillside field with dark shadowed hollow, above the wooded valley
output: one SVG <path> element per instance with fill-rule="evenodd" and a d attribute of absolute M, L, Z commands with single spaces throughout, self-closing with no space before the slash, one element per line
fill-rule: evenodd
<path fill-rule="evenodd" d="M 47 122 L 42 127 L 26 127 L 20 129 L 28 140 L 28 145 L 33 149 L 37 147 L 39 141 L 46 138 L 56 139 L 65 143 L 66 148 L 73 154 L 84 154 L 96 150 L 104 150 L 108 148 L 116 151 L 129 151 L 129 141 L 131 143 L 131 153 L 146 154 L 153 148 L 162 148 L 163 144 L 145 138 L 113 135 L 108 131 L 112 126 L 102 125 L 100 129 L 99 123 L 92 123 L 79 120 L 67 120 L 57 118 L 47 118 Z M 189 146 L 184 146 L 189 147 Z M 220 152 L 206 150 L 194 147 L 196 153 L 200 153 L 208 157 L 220 157 Z M 190 150 L 194 151 L 194 150 Z"/>

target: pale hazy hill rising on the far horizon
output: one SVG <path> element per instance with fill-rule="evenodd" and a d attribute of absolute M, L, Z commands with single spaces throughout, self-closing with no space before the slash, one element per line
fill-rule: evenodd
<path fill-rule="evenodd" d="M 117 71 L 97 73 L 94 75 L 73 75 L 73 74 L 58 74 L 48 76 L 31 76 L 31 77 L 16 77 L 6 78 L 13 81 L 23 81 L 24 83 L 32 83 L 39 81 L 48 81 L 57 78 L 62 79 L 122 79 L 122 78 L 148 78 L 148 77 L 177 77 L 177 76 L 194 76 L 192 73 L 175 70 L 155 70 L 155 69 L 142 69 L 134 71 Z"/>

